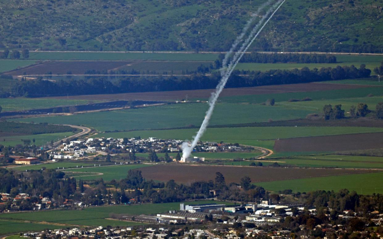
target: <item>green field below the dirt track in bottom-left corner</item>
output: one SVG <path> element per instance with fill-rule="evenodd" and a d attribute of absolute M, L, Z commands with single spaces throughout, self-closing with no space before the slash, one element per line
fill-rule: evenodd
<path fill-rule="evenodd" d="M 44 229 L 60 229 L 62 226 L 54 226 L 39 223 L 24 223 L 16 221 L 0 220 L 0 235 L 28 232 L 28 231 L 43 231 Z M 25 238 L 25 237 L 24 237 Z"/>

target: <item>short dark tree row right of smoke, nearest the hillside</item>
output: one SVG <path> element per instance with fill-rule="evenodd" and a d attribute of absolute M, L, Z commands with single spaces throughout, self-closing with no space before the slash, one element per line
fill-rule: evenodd
<path fill-rule="evenodd" d="M 336 57 L 329 54 L 267 54 L 252 52 L 244 54 L 240 62 L 255 63 L 336 63 Z"/>

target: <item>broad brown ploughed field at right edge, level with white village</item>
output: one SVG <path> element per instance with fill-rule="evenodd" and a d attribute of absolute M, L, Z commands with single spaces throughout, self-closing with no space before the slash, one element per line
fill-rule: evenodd
<path fill-rule="evenodd" d="M 279 152 L 346 151 L 381 148 L 383 145 L 383 133 L 355 134 L 351 129 L 349 133 L 353 134 L 279 139 L 275 141 L 274 150 Z"/>

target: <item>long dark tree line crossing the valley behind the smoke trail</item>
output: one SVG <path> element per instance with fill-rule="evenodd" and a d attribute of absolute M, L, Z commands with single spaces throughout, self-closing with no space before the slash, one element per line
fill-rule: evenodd
<path fill-rule="evenodd" d="M 245 74 L 245 75 L 244 75 Z M 269 70 L 260 71 L 235 71 L 226 85 L 228 88 L 250 87 L 261 85 L 282 85 L 295 83 L 308 83 L 313 81 L 343 80 L 369 77 L 371 70 L 362 64 L 360 68 L 354 65 L 348 67 L 337 66 L 335 68 L 314 68 L 310 70 L 304 67 L 300 70 Z M 215 88 L 221 79 L 219 72 L 211 75 L 193 74 L 190 76 L 170 77 L 126 77 L 116 82 L 105 78 L 93 78 L 90 80 L 70 81 L 46 81 L 37 79 L 31 81 L 15 81 L 9 92 L 12 96 L 41 97 L 62 96 L 78 94 L 116 94 L 148 91 L 173 91 L 191 89 Z M 0 94 L 1 95 L 1 94 Z M 6 95 L 6 94 L 3 94 Z"/>

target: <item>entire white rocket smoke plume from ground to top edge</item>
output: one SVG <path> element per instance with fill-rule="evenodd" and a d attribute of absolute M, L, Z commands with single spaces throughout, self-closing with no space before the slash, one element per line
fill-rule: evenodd
<path fill-rule="evenodd" d="M 257 36 L 259 35 L 259 33 L 262 31 L 262 29 L 266 26 L 266 24 L 268 23 L 268 21 L 270 21 L 270 19 L 273 17 L 273 15 L 278 11 L 278 9 L 282 6 L 282 4 L 285 2 L 286 0 L 279 0 L 275 6 L 278 6 L 274 11 L 273 13 L 267 18 L 267 16 L 270 14 L 271 10 L 267 11 L 267 13 L 262 17 L 262 19 L 260 20 L 260 22 L 252 29 L 252 31 L 250 32 L 249 34 L 249 37 L 247 37 L 246 41 L 242 44 L 241 48 L 236 52 L 236 54 L 234 55 L 234 57 L 231 59 L 229 65 L 227 68 L 225 68 L 225 65 L 223 65 L 223 69 L 221 69 L 221 81 L 219 81 L 218 85 L 216 86 L 216 89 L 213 93 L 211 93 L 211 96 L 209 98 L 209 109 L 208 111 L 206 111 L 206 116 L 205 116 L 205 119 L 203 120 L 202 124 L 201 124 L 201 127 L 200 129 L 198 130 L 197 134 L 193 137 L 193 141 L 191 142 L 191 145 L 189 146 L 187 142 L 184 142 L 182 144 L 182 160 L 185 160 L 187 159 L 190 154 L 191 154 L 191 151 L 193 150 L 193 148 L 197 145 L 198 141 L 200 140 L 201 136 L 203 135 L 203 133 L 205 133 L 205 130 L 206 128 L 208 127 L 208 124 L 209 124 L 209 120 L 210 120 L 210 117 L 211 115 L 213 114 L 213 110 L 214 110 L 214 106 L 216 104 L 216 101 L 218 99 L 218 96 L 219 94 L 222 92 L 223 88 L 225 87 L 226 85 L 226 82 L 228 81 L 229 79 L 229 76 L 231 75 L 231 73 L 233 72 L 234 68 L 236 67 L 237 63 L 239 62 L 239 60 L 241 60 L 242 56 L 245 54 L 246 50 L 249 49 L 250 45 L 254 42 L 254 40 L 257 38 Z M 262 7 L 262 6 L 261 6 Z M 259 26 L 262 24 L 262 22 L 267 18 L 267 20 L 265 21 L 265 23 L 262 25 L 262 27 L 257 31 L 257 29 L 259 28 Z M 249 28 L 251 23 L 249 24 L 246 24 L 245 28 L 247 27 L 247 29 Z M 246 31 L 245 31 L 246 32 Z M 255 34 L 255 32 L 257 32 Z M 255 34 L 255 36 L 254 36 Z M 241 34 L 242 35 L 242 34 Z M 240 35 L 240 36 L 241 36 Z M 239 37 L 240 37 L 239 36 Z M 242 37 L 244 36 L 244 34 L 242 35 Z M 236 41 L 234 42 L 232 48 L 235 48 L 239 42 L 241 41 L 241 39 L 238 40 L 238 38 L 236 39 Z M 235 45 L 235 46 L 234 46 Z M 231 49 L 232 51 L 232 49 Z M 230 51 L 228 52 L 228 54 L 226 55 L 230 55 Z M 226 59 L 226 56 L 225 56 L 225 59 Z M 225 61 L 225 63 L 227 63 L 227 59 Z"/>

